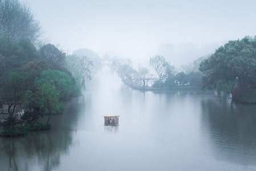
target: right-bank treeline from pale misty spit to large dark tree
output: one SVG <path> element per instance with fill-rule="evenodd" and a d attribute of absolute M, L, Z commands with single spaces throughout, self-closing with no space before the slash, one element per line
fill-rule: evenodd
<path fill-rule="evenodd" d="M 214 54 L 194 61 L 187 68 L 190 72 L 175 72 L 174 66 L 158 55 L 149 59 L 149 66 L 135 70 L 130 60 L 112 63 L 121 80 L 135 89 L 194 85 L 231 93 L 234 101 L 256 103 L 256 36 L 230 40 Z"/>

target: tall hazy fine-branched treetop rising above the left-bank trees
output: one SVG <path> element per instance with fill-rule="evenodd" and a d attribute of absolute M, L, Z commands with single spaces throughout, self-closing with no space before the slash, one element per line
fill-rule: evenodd
<path fill-rule="evenodd" d="M 14 40 L 27 38 L 36 42 L 41 34 L 39 22 L 29 6 L 18 0 L 0 0 L 0 36 L 8 35 Z"/>

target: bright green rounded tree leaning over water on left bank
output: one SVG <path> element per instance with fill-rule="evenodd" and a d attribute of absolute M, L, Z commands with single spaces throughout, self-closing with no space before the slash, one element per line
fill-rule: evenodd
<path fill-rule="evenodd" d="M 62 112 L 62 101 L 79 95 L 79 88 L 75 87 L 72 78 L 62 71 L 45 70 L 35 79 L 34 84 L 36 87 L 34 96 L 30 92 L 27 92 L 26 96 L 36 99 L 33 101 L 34 108 L 38 107 L 39 113 L 48 113 L 47 124 L 52 114 Z"/>

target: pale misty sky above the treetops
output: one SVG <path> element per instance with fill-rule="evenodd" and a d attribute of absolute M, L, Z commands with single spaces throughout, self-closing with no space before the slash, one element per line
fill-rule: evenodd
<path fill-rule="evenodd" d="M 178 58 L 213 53 L 228 40 L 256 35 L 253 0 L 24 1 L 47 43 L 68 54 L 78 48 L 132 59 L 160 54 L 178 64 L 174 60 L 184 62 Z"/>

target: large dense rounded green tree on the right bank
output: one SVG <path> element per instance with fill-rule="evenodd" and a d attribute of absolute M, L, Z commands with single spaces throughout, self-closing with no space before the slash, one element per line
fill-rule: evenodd
<path fill-rule="evenodd" d="M 215 88 L 218 80 L 235 82 L 239 88 L 256 86 L 256 38 L 246 36 L 221 46 L 200 63 L 204 87 Z"/>

